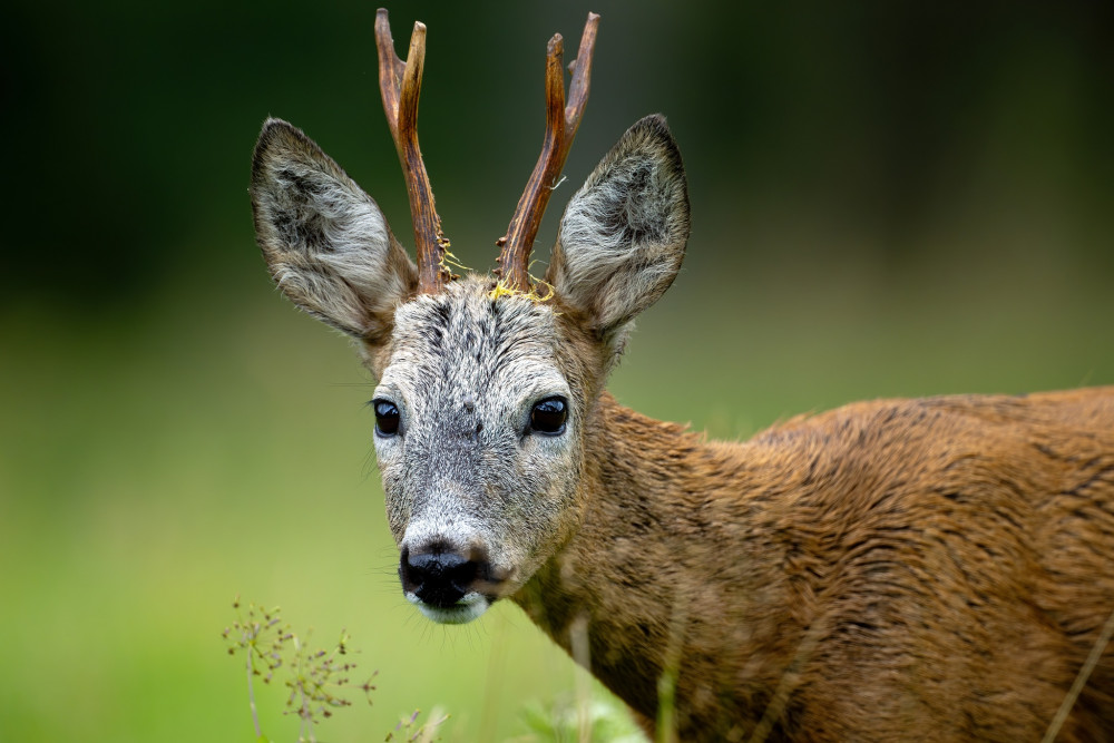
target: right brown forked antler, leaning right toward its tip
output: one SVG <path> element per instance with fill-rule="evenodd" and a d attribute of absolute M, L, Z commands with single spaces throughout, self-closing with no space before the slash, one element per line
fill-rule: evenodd
<path fill-rule="evenodd" d="M 569 65 L 573 84 L 569 87 L 569 102 L 565 106 L 565 81 L 561 78 L 564 45 L 560 33 L 554 35 L 546 50 L 546 136 L 541 155 L 534 166 L 534 173 L 526 183 L 526 190 L 518 199 L 515 216 L 510 218 L 507 234 L 496 241 L 502 250 L 499 253 L 499 268 L 496 273 L 501 284 L 518 292 L 530 291 L 530 251 L 538 235 L 541 216 L 557 187 L 557 178 L 565 167 L 573 138 L 580 126 L 580 116 L 588 102 L 589 78 L 592 76 L 592 52 L 596 46 L 596 29 L 599 16 L 588 13 L 580 37 L 580 48 L 576 60 Z"/>

